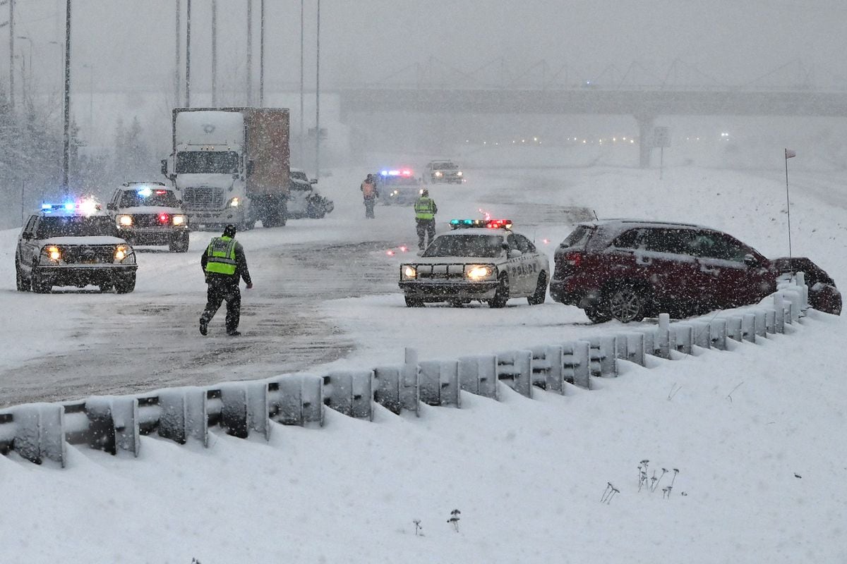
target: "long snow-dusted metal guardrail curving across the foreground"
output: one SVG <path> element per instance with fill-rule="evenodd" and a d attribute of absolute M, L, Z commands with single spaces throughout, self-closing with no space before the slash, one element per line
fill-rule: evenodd
<path fill-rule="evenodd" d="M 662 314 L 647 330 L 453 360 L 419 361 L 417 352 L 407 349 L 404 364 L 373 370 L 19 405 L 0 410 L 0 454 L 14 451 L 33 463 L 50 460 L 64 467 L 69 444 L 138 456 L 141 435 L 208 446 L 210 429 L 218 427 L 229 435 L 268 440 L 272 422 L 323 425 L 326 407 L 372 420 L 376 403 L 393 413 L 418 414 L 422 402 L 461 408 L 462 391 L 497 400 L 501 382 L 526 397 L 536 387 L 564 394 L 569 385 L 590 389 L 592 376 L 617 376 L 619 360 L 645 366 L 647 355 L 673 359 L 697 349 L 727 350 L 729 341 L 755 343 L 799 323 L 808 308 L 800 273 L 772 294 L 772 306 L 673 324 Z"/>

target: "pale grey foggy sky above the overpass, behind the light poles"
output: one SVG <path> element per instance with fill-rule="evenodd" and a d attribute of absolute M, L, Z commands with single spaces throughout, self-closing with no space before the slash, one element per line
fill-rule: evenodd
<path fill-rule="evenodd" d="M 182 0 L 182 24 L 185 27 Z M 240 88 L 245 77 L 247 0 L 218 0 L 219 86 Z M 306 80 L 314 84 L 315 0 L 306 0 Z M 253 76 L 258 77 L 259 0 L 253 0 Z M 174 0 L 73 0 L 74 88 L 173 90 Z M 210 85 L 211 0 L 192 3 L 192 89 Z M 0 14 L 2 14 L 0 10 Z M 0 19 L 6 19 L 0 16 Z M 674 60 L 686 66 L 679 83 L 744 85 L 787 65 L 767 85 L 794 85 L 810 73 L 818 88 L 847 88 L 844 20 L 839 0 L 525 0 L 520 3 L 452 0 L 324 0 L 321 4 L 321 82 L 327 87 L 390 79 L 413 82 L 414 65 L 430 57 L 440 68 L 477 76 L 514 78 L 544 59 L 551 74 L 567 63 L 567 79 L 603 75 L 654 84 Z M 266 0 L 268 88 L 300 78 L 300 2 Z M 58 90 L 64 42 L 64 0 L 16 2 L 15 51 L 23 55 L 28 84 Z M 0 30 L 0 79 L 8 83 L 8 27 Z M 185 47 L 183 37 L 183 48 Z M 30 55 L 31 50 L 31 55 Z M 499 59 L 507 72 L 501 72 Z M 16 65 L 21 63 L 16 59 Z M 183 53 L 182 62 L 185 63 Z M 89 65 L 83 67 L 83 64 Z M 610 68 L 614 66 L 614 70 Z M 93 74 L 91 74 L 93 68 Z M 401 69 L 409 68 L 401 73 Z M 691 69 L 696 68 L 698 72 Z M 604 75 L 604 71 L 606 74 Z M 16 87 L 20 86 L 20 68 Z M 539 80 L 540 71 L 529 73 Z M 450 74 L 444 70 L 444 76 Z M 637 76 L 636 76 L 637 75 Z M 566 74 L 559 81 L 565 82 Z M 634 77 L 634 78 L 633 78 Z M 708 77 L 708 78 L 704 78 Z M 438 77 L 436 77 L 438 78 Z M 257 91 L 257 82 L 254 86 Z"/>

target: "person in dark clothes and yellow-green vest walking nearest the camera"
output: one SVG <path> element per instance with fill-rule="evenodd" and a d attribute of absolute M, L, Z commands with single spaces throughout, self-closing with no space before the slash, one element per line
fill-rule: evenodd
<path fill-rule="evenodd" d="M 200 259 L 203 273 L 208 284 L 206 309 L 200 316 L 200 334 L 208 333 L 208 324 L 226 300 L 226 334 L 241 335 L 238 321 L 241 319 L 241 291 L 238 283 L 241 279 L 247 289 L 253 287 L 244 249 L 235 240 L 235 225 L 227 225 L 224 234 L 212 238 Z"/>

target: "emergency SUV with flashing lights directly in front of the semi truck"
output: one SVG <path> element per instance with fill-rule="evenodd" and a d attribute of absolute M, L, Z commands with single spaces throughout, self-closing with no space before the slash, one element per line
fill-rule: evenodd
<path fill-rule="evenodd" d="M 106 208 L 129 244 L 168 245 L 172 253 L 188 250 L 188 217 L 174 189 L 163 183 L 126 182 Z"/>

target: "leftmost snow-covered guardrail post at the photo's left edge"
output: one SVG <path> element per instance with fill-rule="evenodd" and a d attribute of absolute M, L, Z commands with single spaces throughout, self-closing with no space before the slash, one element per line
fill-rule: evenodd
<path fill-rule="evenodd" d="M 64 407 L 33 403 L 12 408 L 14 450 L 32 463 L 53 460 L 64 468 L 68 447 L 64 441 Z"/>

